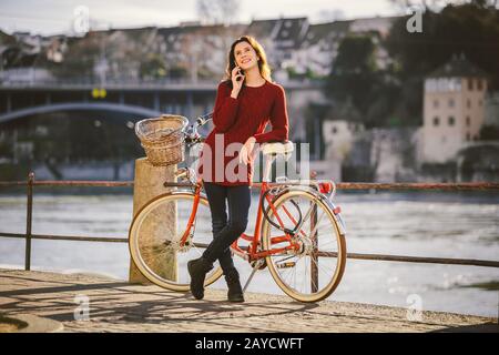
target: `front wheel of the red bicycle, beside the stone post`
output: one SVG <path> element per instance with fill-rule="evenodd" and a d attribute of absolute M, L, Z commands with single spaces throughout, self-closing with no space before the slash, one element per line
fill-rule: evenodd
<path fill-rule="evenodd" d="M 173 291 L 189 291 L 187 262 L 200 257 L 213 239 L 207 200 L 190 192 L 170 192 L 144 205 L 129 231 L 130 255 L 139 271 L 152 283 Z M 190 226 L 190 227 L 189 227 Z M 187 231 L 187 242 L 181 239 Z M 205 286 L 222 276 L 215 267 L 206 275 Z"/>

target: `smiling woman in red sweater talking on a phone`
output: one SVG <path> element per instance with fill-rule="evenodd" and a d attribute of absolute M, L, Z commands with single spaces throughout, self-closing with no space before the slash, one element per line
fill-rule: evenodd
<path fill-rule="evenodd" d="M 265 52 L 254 38 L 244 36 L 234 41 L 225 75 L 216 94 L 214 129 L 206 138 L 198 165 L 212 214 L 213 241 L 200 258 L 187 263 L 187 268 L 191 292 L 201 300 L 206 273 L 218 260 L 228 301 L 244 302 L 230 246 L 246 230 L 256 143 L 286 141 L 288 119 L 284 90 L 271 82 Z M 264 133 L 268 121 L 272 131 Z M 234 151 L 234 146 L 238 149 Z"/>

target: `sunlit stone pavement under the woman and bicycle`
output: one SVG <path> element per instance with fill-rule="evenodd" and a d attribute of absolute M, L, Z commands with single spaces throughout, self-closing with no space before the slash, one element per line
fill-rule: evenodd
<path fill-rule="evenodd" d="M 94 275 L 0 268 L 0 313 L 58 321 L 63 332 L 499 332 L 498 320 L 488 317 L 424 312 L 414 322 L 406 308 L 252 293 L 244 304 L 225 298 L 225 291 L 210 288 L 196 301 Z"/>

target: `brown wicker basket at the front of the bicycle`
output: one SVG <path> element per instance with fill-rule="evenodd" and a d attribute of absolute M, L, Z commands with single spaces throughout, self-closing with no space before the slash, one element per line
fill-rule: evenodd
<path fill-rule="evenodd" d="M 189 120 L 182 115 L 163 114 L 135 124 L 135 134 L 154 166 L 165 166 L 184 160 L 184 130 Z"/>

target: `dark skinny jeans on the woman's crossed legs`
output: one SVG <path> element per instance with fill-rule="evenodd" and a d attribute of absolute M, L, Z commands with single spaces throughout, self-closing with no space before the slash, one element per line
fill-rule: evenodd
<path fill-rule="evenodd" d="M 224 186 L 204 182 L 204 190 L 212 213 L 213 241 L 203 253 L 203 257 L 214 263 L 218 260 L 224 274 L 234 268 L 230 246 L 246 230 L 251 205 L 248 185 Z M 228 202 L 228 219 L 225 201 Z"/>

